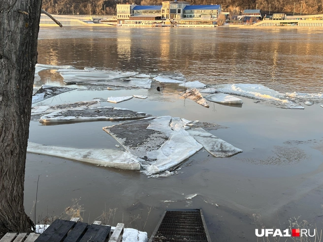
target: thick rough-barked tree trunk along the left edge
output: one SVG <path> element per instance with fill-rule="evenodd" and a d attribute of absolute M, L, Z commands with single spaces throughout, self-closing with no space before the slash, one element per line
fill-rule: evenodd
<path fill-rule="evenodd" d="M 24 180 L 41 0 L 0 0 L 0 232 L 27 232 Z"/>

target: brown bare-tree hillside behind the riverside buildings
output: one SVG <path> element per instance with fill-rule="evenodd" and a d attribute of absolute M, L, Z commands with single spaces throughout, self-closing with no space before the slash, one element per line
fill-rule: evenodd
<path fill-rule="evenodd" d="M 240 14 L 244 9 L 260 9 L 262 14 L 323 14 L 323 0 L 188 0 L 191 5 L 221 4 L 223 11 Z M 162 0 L 43 0 L 51 14 L 116 14 L 116 4 L 161 5 Z"/>

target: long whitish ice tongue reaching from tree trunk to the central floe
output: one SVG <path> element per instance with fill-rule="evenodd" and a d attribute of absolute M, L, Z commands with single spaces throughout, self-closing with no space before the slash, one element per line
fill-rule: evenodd
<path fill-rule="evenodd" d="M 98 166 L 125 170 L 140 170 L 139 161 L 129 152 L 110 149 L 76 149 L 59 146 L 45 146 L 28 142 L 27 152 L 62 157 L 92 163 Z"/>

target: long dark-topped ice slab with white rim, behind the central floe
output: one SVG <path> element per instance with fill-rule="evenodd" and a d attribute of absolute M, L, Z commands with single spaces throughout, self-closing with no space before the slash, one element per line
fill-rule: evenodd
<path fill-rule="evenodd" d="M 40 118 L 42 123 L 137 120 L 150 115 L 134 112 L 126 108 L 96 107 L 83 110 L 60 110 Z"/>

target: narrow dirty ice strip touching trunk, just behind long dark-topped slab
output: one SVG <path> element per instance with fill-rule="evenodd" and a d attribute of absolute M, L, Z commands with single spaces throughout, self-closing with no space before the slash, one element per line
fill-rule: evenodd
<path fill-rule="evenodd" d="M 99 107 L 100 101 L 82 101 L 74 103 L 65 103 L 59 105 L 44 105 L 32 107 L 32 116 L 50 114 L 63 109 L 83 110 L 86 108 Z"/>

